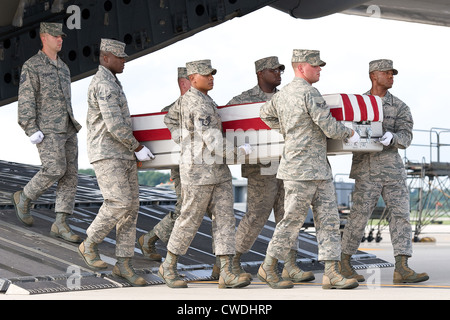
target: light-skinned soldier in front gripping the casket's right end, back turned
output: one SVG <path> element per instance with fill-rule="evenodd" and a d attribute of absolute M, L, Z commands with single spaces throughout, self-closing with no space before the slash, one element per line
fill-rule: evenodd
<path fill-rule="evenodd" d="M 278 260 L 286 261 L 298 238 L 310 205 L 313 209 L 319 247 L 319 261 L 325 262 L 322 287 L 354 288 L 358 282 L 339 272 L 341 257 L 339 214 L 331 168 L 327 160 L 326 139 L 357 142 L 359 135 L 336 121 L 319 91 L 312 86 L 319 81 L 319 51 L 293 51 L 294 80 L 266 102 L 261 119 L 284 138 L 284 150 L 277 178 L 285 188 L 285 214 L 277 224 L 267 248 L 258 277 L 272 288 L 291 288 L 290 280 L 281 280 Z"/>

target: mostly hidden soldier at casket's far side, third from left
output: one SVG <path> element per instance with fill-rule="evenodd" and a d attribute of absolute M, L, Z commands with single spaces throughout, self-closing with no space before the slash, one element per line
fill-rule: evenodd
<path fill-rule="evenodd" d="M 161 111 L 169 111 L 170 108 L 181 102 L 182 96 L 190 89 L 191 82 L 187 76 L 186 67 L 178 68 L 178 87 L 180 88 L 180 97 L 172 104 L 164 107 Z M 176 108 L 176 107 L 175 107 Z M 178 119 L 178 115 L 176 116 Z M 173 131 L 173 130 L 172 130 Z M 177 203 L 175 204 L 175 211 L 169 212 L 152 230 L 147 234 L 142 235 L 138 239 L 138 246 L 141 248 L 142 254 L 154 261 L 161 261 L 161 255 L 156 252 L 155 243 L 158 239 L 161 239 L 164 243 L 169 242 L 170 234 L 175 220 L 180 215 L 181 209 L 181 181 L 180 181 L 180 168 L 172 168 L 170 170 L 170 178 L 175 185 L 175 193 L 177 195 Z"/>

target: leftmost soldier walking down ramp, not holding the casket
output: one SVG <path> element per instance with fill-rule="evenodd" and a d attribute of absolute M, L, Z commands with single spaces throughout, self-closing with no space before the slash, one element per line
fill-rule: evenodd
<path fill-rule="evenodd" d="M 31 226 L 31 201 L 57 182 L 56 219 L 50 234 L 79 243 L 81 238 L 66 223 L 73 213 L 78 184 L 77 132 L 81 126 L 73 116 L 70 70 L 57 55 L 65 36 L 62 27 L 60 23 L 41 23 L 42 50 L 22 68 L 18 122 L 36 144 L 42 168 L 22 191 L 13 194 L 12 202 L 19 220 Z"/>

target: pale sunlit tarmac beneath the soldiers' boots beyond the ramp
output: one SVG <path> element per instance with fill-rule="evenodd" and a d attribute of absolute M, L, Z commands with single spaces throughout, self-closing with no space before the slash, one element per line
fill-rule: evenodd
<path fill-rule="evenodd" d="M 413 226 L 414 227 L 414 226 Z M 427 272 L 430 279 L 417 284 L 393 284 L 393 268 L 358 270 L 366 278 L 358 288 L 351 290 L 322 289 L 322 273 L 315 273 L 313 282 L 295 284 L 292 289 L 276 290 L 261 282 L 255 275 L 252 283 L 240 289 L 218 289 L 217 281 L 190 282 L 186 289 L 171 289 L 166 285 L 146 287 L 121 287 L 115 289 L 83 290 L 40 295 L 1 294 L 0 302 L 6 300 L 148 300 L 155 304 L 170 305 L 171 312 L 189 314 L 198 312 L 204 317 L 205 306 L 213 306 L 210 312 L 230 315 L 231 305 L 258 306 L 260 315 L 273 311 L 285 303 L 304 300 L 448 300 L 450 299 L 450 226 L 428 225 L 420 234 L 421 239 L 432 242 L 413 242 L 413 257 L 409 266 L 416 272 Z M 380 242 L 363 242 L 360 250 L 394 263 L 388 228 L 382 230 Z M 193 306 L 198 306 L 194 309 Z M 205 309 L 201 309 L 204 306 Z M 295 305 L 294 305 L 295 306 Z M 191 309 L 189 309 L 191 308 Z M 256 308 L 256 307 L 255 307 Z M 244 308 L 245 309 L 245 308 Z M 170 310 L 170 309 L 169 309 Z M 205 312 L 205 313 L 201 313 Z M 210 316 L 212 314 L 208 314 Z"/>

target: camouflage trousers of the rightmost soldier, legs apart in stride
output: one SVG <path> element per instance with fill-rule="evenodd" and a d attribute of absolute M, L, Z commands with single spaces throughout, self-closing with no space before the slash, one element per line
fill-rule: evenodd
<path fill-rule="evenodd" d="M 393 182 L 355 181 L 353 207 L 342 237 L 342 252 L 352 255 L 361 243 L 364 229 L 380 198 L 389 210 L 389 231 L 394 256 L 412 255 L 412 229 L 409 221 L 409 192 L 404 180 Z"/>

